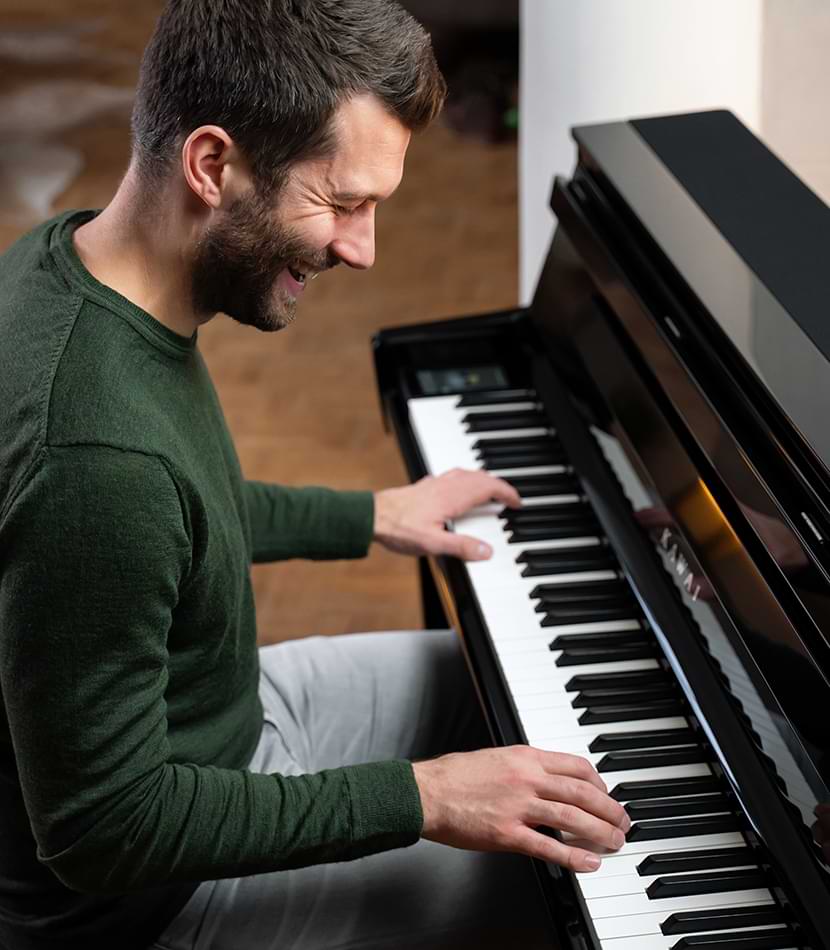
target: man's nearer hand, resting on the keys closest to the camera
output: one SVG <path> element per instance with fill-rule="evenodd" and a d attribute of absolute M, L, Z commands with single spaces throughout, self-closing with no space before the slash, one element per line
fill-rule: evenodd
<path fill-rule="evenodd" d="M 597 854 L 536 831 L 568 832 L 616 851 L 631 821 L 587 759 L 531 746 L 456 752 L 413 764 L 421 836 L 471 851 L 515 851 L 572 871 L 595 871 Z"/>

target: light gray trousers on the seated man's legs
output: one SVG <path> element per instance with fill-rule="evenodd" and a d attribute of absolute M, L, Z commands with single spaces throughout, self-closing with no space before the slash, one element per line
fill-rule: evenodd
<path fill-rule="evenodd" d="M 265 723 L 249 768 L 299 775 L 489 745 L 452 631 L 260 650 Z M 550 948 L 527 858 L 421 840 L 338 864 L 206 881 L 155 950 Z"/>

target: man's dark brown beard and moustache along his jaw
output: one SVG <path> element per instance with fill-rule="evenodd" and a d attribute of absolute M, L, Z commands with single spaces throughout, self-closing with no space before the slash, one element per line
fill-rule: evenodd
<path fill-rule="evenodd" d="M 226 313 L 238 323 L 273 332 L 297 313 L 296 298 L 278 286 L 289 265 L 314 271 L 338 263 L 328 250 L 310 247 L 256 190 L 237 198 L 200 239 L 191 272 L 193 306 L 212 317 Z"/>

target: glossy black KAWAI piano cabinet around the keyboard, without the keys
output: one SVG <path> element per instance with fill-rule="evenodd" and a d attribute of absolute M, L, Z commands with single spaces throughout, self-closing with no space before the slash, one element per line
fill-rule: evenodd
<path fill-rule="evenodd" d="M 384 417 L 416 478 L 409 399 L 535 390 L 786 919 L 830 948 L 830 210 L 726 112 L 574 135 L 532 305 L 379 333 Z M 517 741 L 464 567 L 432 569 Z M 563 945 L 598 947 L 561 895 Z"/>

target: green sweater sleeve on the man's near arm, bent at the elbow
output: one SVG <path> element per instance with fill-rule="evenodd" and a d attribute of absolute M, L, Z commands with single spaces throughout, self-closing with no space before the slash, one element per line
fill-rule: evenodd
<path fill-rule="evenodd" d="M 116 894 L 414 843 L 408 762 L 285 777 L 170 761 L 183 511 L 157 458 L 53 448 L 0 526 L 0 690 L 39 859 Z"/>

